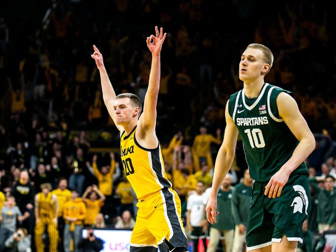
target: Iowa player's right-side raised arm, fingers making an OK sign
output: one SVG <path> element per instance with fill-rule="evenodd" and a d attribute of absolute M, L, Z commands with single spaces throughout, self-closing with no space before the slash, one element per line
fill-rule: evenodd
<path fill-rule="evenodd" d="M 137 130 L 141 131 L 140 135 L 143 136 L 146 135 L 147 131 L 152 131 L 154 133 L 156 124 L 156 103 L 159 93 L 160 74 L 161 74 L 160 52 L 166 34 L 163 34 L 162 28 L 160 29 L 159 32 L 157 26 L 155 26 L 155 34 L 156 34 L 155 36 L 151 35 L 150 37 L 147 38 L 147 46 L 149 50 L 152 52 L 152 66 L 151 66 L 151 73 L 149 75 L 148 90 L 145 96 L 144 111 L 139 119 L 139 125 L 141 127 L 137 128 Z"/>

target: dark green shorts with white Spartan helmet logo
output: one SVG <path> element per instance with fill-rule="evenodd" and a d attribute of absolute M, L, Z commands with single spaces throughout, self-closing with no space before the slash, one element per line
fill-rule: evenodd
<path fill-rule="evenodd" d="M 255 182 L 248 214 L 246 245 L 253 250 L 280 242 L 302 242 L 302 223 L 310 213 L 311 198 L 305 175 L 290 176 L 280 197 L 264 195 L 267 183 Z"/>

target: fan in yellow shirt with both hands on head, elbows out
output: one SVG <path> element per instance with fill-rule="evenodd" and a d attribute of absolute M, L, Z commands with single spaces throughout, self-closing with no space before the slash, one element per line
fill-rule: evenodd
<path fill-rule="evenodd" d="M 89 199 L 87 199 L 88 194 Z M 99 195 L 99 199 L 98 199 Z M 100 208 L 104 205 L 105 196 L 98 189 L 96 185 L 88 186 L 88 188 L 83 193 L 81 199 L 87 207 L 87 216 L 84 219 L 85 225 L 94 225 L 96 221 L 97 214 L 100 213 Z"/>

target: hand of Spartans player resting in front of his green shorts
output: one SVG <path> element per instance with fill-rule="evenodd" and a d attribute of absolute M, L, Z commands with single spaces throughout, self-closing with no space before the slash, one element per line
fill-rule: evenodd
<path fill-rule="evenodd" d="M 268 198 L 279 197 L 283 187 L 286 185 L 290 173 L 283 169 L 283 167 L 277 171 L 269 180 L 265 186 L 265 195 L 268 194 Z"/>

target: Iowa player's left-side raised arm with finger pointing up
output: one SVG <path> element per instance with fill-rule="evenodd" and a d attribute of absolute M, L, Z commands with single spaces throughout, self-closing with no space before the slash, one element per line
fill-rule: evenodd
<path fill-rule="evenodd" d="M 101 89 L 103 91 L 103 100 L 108 110 L 108 114 L 110 115 L 110 117 L 113 119 L 113 121 L 116 124 L 116 113 L 113 108 L 115 101 L 116 101 L 116 93 L 108 78 L 108 75 L 107 75 L 107 72 L 104 66 L 103 55 L 100 53 L 100 51 L 95 45 L 93 45 L 93 49 L 94 49 L 94 53 L 91 54 L 91 57 L 92 59 L 96 61 L 96 65 L 99 70 Z M 124 130 L 122 126 L 118 126 L 117 124 L 116 126 L 119 131 Z"/>

